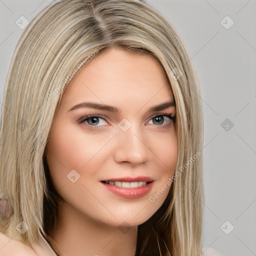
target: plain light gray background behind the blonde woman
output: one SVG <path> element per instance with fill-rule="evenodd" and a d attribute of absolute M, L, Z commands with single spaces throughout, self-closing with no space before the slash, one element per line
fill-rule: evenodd
<path fill-rule="evenodd" d="M 21 15 L 31 20 L 50 2 L 0 0 L 1 104 L 10 58 L 22 32 L 15 21 Z M 224 256 L 256 255 L 256 0 L 147 2 L 176 27 L 202 89 L 203 245 Z"/>

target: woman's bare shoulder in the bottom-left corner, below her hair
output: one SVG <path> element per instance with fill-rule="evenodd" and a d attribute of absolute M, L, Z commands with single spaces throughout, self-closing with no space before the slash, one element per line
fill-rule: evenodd
<path fill-rule="evenodd" d="M 0 256 L 38 256 L 31 247 L 0 232 Z"/>

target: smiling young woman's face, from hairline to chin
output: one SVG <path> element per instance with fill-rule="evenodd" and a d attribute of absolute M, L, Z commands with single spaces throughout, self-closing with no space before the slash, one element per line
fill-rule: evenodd
<path fill-rule="evenodd" d="M 177 160 L 175 123 L 168 117 L 175 107 L 156 106 L 171 101 L 164 74 L 149 55 L 111 48 L 74 76 L 47 150 L 54 187 L 74 214 L 119 226 L 139 225 L 156 212 Z"/>

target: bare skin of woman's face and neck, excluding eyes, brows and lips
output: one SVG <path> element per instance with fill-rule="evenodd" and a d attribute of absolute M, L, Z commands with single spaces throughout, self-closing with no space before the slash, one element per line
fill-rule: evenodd
<path fill-rule="evenodd" d="M 175 107 L 147 112 L 170 100 L 173 96 L 157 61 L 117 47 L 95 56 L 70 81 L 56 111 L 46 154 L 54 187 L 64 198 L 50 234 L 59 255 L 135 254 L 137 226 L 162 205 L 170 186 L 154 202 L 148 198 L 172 177 L 177 160 L 175 122 L 153 118 L 162 113 L 173 116 Z M 88 107 L 69 111 L 87 101 L 119 107 L 121 113 Z M 94 126 L 92 118 L 78 123 L 88 114 L 105 119 L 98 117 Z M 126 131 L 118 126 L 123 118 L 131 123 Z M 80 175 L 75 182 L 67 178 L 72 169 Z M 150 176 L 154 182 L 148 194 L 136 199 L 115 195 L 100 182 L 138 175 Z"/>

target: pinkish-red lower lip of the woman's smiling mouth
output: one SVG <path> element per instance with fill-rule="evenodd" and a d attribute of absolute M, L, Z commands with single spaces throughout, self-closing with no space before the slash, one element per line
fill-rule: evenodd
<path fill-rule="evenodd" d="M 149 193 L 149 191 L 153 186 L 153 181 L 143 186 L 133 187 L 133 188 L 114 186 L 114 185 L 109 185 L 103 182 L 100 182 L 100 183 L 103 184 L 110 192 L 116 195 L 119 195 L 120 197 L 128 198 L 128 199 L 136 199 L 146 195 L 147 193 Z"/>

